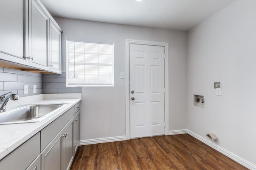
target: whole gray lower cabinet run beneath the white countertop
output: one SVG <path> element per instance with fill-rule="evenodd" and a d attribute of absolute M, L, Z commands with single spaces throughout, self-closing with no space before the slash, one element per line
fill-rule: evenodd
<path fill-rule="evenodd" d="M 74 113 L 72 107 L 0 160 L 0 170 L 69 170 L 79 145 L 80 111 Z"/>

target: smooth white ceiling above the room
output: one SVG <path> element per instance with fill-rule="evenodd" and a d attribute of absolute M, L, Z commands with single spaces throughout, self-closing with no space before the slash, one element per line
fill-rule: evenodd
<path fill-rule="evenodd" d="M 41 0 L 52 16 L 188 31 L 235 0 Z"/>

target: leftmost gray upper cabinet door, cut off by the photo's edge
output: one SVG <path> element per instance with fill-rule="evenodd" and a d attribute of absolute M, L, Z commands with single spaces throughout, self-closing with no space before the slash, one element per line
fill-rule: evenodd
<path fill-rule="evenodd" d="M 28 0 L 0 0 L 0 59 L 28 65 L 27 18 Z"/>

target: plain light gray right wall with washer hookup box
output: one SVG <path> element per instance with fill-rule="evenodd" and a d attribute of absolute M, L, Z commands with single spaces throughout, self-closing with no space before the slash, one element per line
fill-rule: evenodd
<path fill-rule="evenodd" d="M 237 0 L 188 32 L 188 129 L 256 164 L 256 1 Z M 214 82 L 222 82 L 216 96 Z M 204 108 L 193 95 L 204 96 Z"/>

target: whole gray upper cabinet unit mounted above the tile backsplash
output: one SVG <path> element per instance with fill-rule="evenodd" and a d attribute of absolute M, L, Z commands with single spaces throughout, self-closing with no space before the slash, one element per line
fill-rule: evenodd
<path fill-rule="evenodd" d="M 62 31 L 40 0 L 1 0 L 0 23 L 1 66 L 61 74 Z"/>

